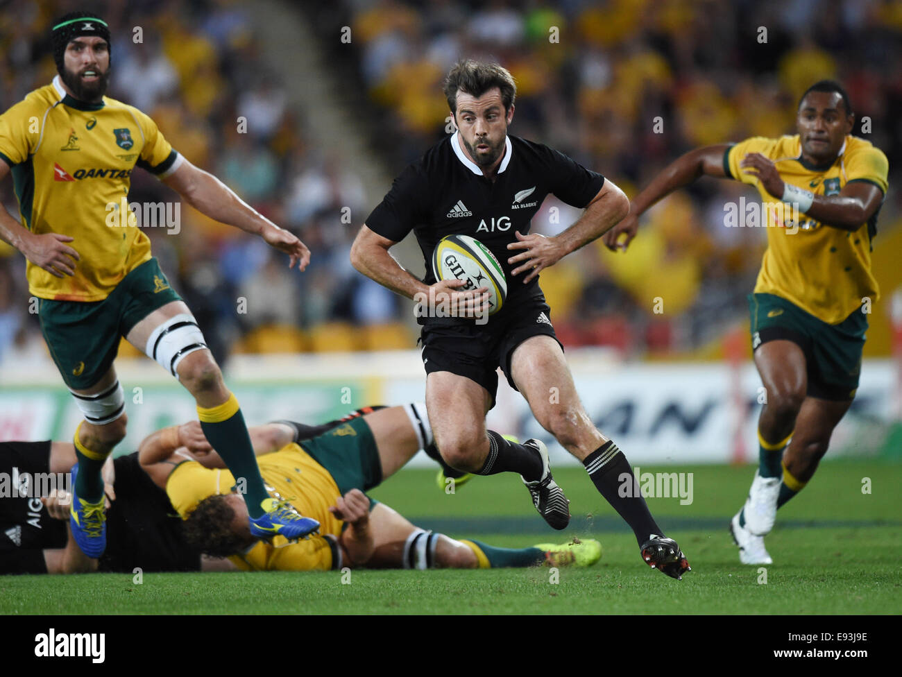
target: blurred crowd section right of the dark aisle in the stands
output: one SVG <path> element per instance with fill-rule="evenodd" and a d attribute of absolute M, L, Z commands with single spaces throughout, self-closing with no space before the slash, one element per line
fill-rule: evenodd
<path fill-rule="evenodd" d="M 395 142 L 387 149 L 395 169 L 446 133 L 447 105 L 437 92 L 462 55 L 511 70 L 518 83 L 511 133 L 565 151 L 630 197 L 696 146 L 795 133 L 802 92 L 837 78 L 858 115 L 853 133 L 889 158 L 879 228 L 897 225 L 902 212 L 893 191 L 902 162 L 897 2 L 345 0 L 344 7 L 364 87 Z M 864 116 L 870 122 L 862 128 Z M 543 271 L 564 343 L 686 351 L 723 334 L 744 315 L 765 246 L 762 229 L 724 225 L 724 205 L 743 195 L 757 193 L 701 181 L 649 212 L 629 255 L 598 244 Z M 533 228 L 557 233 L 576 215 L 549 198 Z"/>

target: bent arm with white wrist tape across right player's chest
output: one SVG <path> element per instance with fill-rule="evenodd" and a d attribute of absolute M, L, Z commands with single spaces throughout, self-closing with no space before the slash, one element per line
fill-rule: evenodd
<path fill-rule="evenodd" d="M 839 195 L 815 195 L 811 191 L 789 186 L 780 178 L 777 167 L 760 153 L 749 153 L 740 162 L 743 171 L 758 177 L 769 194 L 799 210 L 843 231 L 857 231 L 870 219 L 883 201 L 883 191 L 872 183 L 854 181 L 842 187 Z"/>

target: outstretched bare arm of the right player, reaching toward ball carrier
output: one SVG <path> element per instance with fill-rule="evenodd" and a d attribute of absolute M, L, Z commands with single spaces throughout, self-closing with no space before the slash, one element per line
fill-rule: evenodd
<path fill-rule="evenodd" d="M 639 195 L 633 198 L 630 203 L 630 215 L 604 234 L 604 245 L 612 252 L 618 249 L 625 252 L 639 229 L 639 217 L 658 200 L 703 176 L 727 178 L 723 169 L 723 153 L 729 148 L 728 143 L 696 148 L 695 151 L 689 151 L 667 165 Z M 623 242 L 618 242 L 621 235 L 625 235 Z"/>

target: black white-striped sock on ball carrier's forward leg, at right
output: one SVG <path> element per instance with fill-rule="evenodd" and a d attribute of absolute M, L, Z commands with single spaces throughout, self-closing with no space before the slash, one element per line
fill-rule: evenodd
<path fill-rule="evenodd" d="M 616 444 L 608 440 L 586 456 L 583 465 L 598 492 L 630 525 L 640 545 L 648 541 L 651 534 L 664 535 L 642 498 L 639 482 L 632 474 L 630 463 Z M 621 492 L 624 482 L 631 482 L 632 486 Z M 621 496 L 621 493 L 626 496 Z"/>

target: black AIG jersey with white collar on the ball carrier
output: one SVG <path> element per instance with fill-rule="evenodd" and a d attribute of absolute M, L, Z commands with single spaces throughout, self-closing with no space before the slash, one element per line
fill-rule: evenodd
<path fill-rule="evenodd" d="M 457 136 L 438 142 L 404 169 L 366 225 L 394 242 L 412 230 L 423 252 L 428 285 L 436 282 L 431 257 L 438 241 L 451 234 L 471 235 L 502 264 L 508 283 L 505 307 L 541 295 L 538 276 L 524 285 L 526 271 L 511 275 L 515 266 L 507 260 L 522 250 L 508 250 L 507 245 L 517 242 L 516 231 L 529 233 L 529 222 L 549 193 L 583 208 L 602 189 L 604 177 L 562 152 L 508 135 L 492 182 L 466 157 Z"/>

